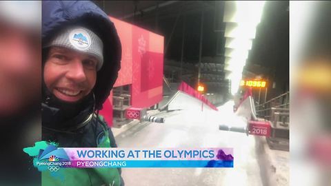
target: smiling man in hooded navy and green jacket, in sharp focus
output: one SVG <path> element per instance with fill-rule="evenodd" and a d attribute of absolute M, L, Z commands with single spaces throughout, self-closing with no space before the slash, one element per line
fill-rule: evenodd
<path fill-rule="evenodd" d="M 90 1 L 43 2 L 42 138 L 59 147 L 117 147 L 99 118 L 120 68 L 121 43 L 108 16 Z M 123 185 L 121 169 L 61 169 L 43 185 Z"/>

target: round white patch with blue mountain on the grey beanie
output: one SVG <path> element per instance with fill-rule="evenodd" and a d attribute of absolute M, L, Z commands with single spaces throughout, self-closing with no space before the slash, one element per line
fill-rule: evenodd
<path fill-rule="evenodd" d="M 78 50 L 86 50 L 91 45 L 90 35 L 83 29 L 72 30 L 69 41 Z"/>

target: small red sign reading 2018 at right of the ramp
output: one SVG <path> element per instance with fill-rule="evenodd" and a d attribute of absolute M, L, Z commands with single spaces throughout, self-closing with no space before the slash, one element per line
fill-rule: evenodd
<path fill-rule="evenodd" d="M 270 137 L 271 125 L 268 121 L 248 121 L 249 134 Z"/>

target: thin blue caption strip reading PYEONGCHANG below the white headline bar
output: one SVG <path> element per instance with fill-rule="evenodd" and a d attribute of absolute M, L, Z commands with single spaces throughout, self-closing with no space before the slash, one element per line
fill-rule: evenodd
<path fill-rule="evenodd" d="M 70 167 L 233 167 L 233 161 L 72 161 Z"/>

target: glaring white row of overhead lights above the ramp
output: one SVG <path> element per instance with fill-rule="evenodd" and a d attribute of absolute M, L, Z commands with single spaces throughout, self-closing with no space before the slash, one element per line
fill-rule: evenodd
<path fill-rule="evenodd" d="M 252 48 L 256 27 L 261 21 L 265 1 L 226 1 L 223 21 L 228 22 L 225 27 L 225 70 L 230 71 L 225 78 L 231 81 L 231 93 L 236 94 L 248 57 L 248 50 Z M 235 7 L 233 9 L 233 7 Z M 234 10 L 232 14 L 231 10 Z M 232 50 L 231 50 L 232 49 Z"/>

